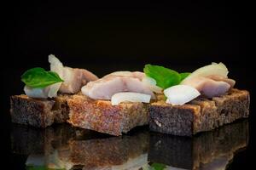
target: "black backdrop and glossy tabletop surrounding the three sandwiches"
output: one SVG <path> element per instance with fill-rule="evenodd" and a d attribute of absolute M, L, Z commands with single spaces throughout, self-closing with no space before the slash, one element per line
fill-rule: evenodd
<path fill-rule="evenodd" d="M 3 165 L 25 169 L 26 162 L 47 160 L 53 166 L 63 167 L 65 162 L 77 168 L 121 169 L 132 163 L 183 169 L 249 168 L 255 148 L 252 7 L 183 1 L 9 3 L 2 11 Z M 12 124 L 9 96 L 23 93 L 20 75 L 36 66 L 48 70 L 49 54 L 99 77 L 112 71 L 143 71 L 148 63 L 194 71 L 213 61 L 224 62 L 236 88 L 251 94 L 250 116 L 193 138 L 152 133 L 147 126 L 112 137 L 68 124 L 46 129 Z"/>

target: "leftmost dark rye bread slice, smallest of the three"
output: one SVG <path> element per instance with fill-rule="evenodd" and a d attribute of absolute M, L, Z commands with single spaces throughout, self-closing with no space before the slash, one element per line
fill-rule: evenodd
<path fill-rule="evenodd" d="M 67 122 L 67 99 L 70 97 L 68 94 L 59 94 L 54 99 L 32 99 L 24 94 L 11 96 L 11 120 L 33 127 L 48 127 L 54 122 Z"/>

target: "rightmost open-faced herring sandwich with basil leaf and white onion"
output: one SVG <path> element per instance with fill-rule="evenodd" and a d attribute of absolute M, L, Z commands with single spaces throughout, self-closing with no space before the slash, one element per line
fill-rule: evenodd
<path fill-rule="evenodd" d="M 165 88 L 164 98 L 149 105 L 152 131 L 191 136 L 249 116 L 249 93 L 233 88 L 236 82 L 228 78 L 223 63 L 180 74 L 180 78 L 164 67 L 145 69 L 147 76 Z"/>

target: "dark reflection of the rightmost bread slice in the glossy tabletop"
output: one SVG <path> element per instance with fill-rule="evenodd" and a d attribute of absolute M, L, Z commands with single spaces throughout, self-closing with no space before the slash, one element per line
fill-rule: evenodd
<path fill-rule="evenodd" d="M 247 142 L 247 120 L 193 138 L 150 133 L 148 161 L 185 169 L 225 169 Z"/>

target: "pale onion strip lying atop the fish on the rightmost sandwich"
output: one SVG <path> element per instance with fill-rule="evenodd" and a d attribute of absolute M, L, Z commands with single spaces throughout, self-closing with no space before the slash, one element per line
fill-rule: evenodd
<path fill-rule="evenodd" d="M 190 78 L 193 77 L 208 77 L 211 75 L 217 75 L 220 77 L 224 77 L 227 78 L 228 77 L 228 69 L 227 67 L 223 64 L 223 63 L 212 63 L 212 65 L 206 65 L 203 66 L 197 70 L 195 70 L 194 72 L 192 72 L 189 77 L 186 77 L 183 82 L 186 82 L 187 80 L 189 80 Z M 181 82 L 181 84 L 183 84 L 183 82 Z"/>

